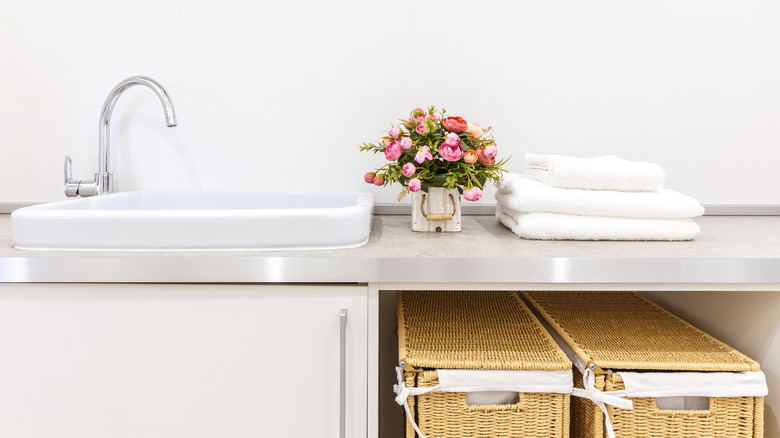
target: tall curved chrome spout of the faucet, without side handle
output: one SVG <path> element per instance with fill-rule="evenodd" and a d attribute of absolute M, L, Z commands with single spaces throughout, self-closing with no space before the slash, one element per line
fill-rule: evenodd
<path fill-rule="evenodd" d="M 163 105 L 165 112 L 165 123 L 169 128 L 176 126 L 176 111 L 173 108 L 171 98 L 162 85 L 152 78 L 145 76 L 132 76 L 120 82 L 106 98 L 103 104 L 103 110 L 100 112 L 100 141 L 98 143 L 98 172 L 95 175 L 97 182 L 97 193 L 111 193 L 113 191 L 113 175 L 108 171 L 109 162 L 109 134 L 111 127 L 111 113 L 114 111 L 114 105 L 128 88 L 135 85 L 145 85 L 149 87 Z"/>

